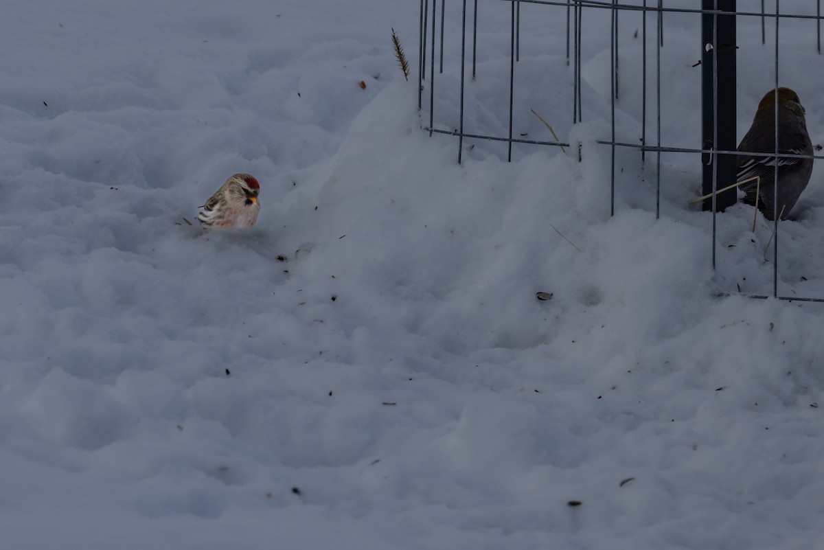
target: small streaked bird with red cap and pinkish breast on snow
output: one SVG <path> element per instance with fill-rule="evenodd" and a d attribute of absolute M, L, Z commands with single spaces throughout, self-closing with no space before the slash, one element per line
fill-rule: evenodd
<path fill-rule="evenodd" d="M 235 174 L 209 197 L 198 213 L 206 230 L 239 228 L 255 225 L 260 211 L 258 180 L 248 174 Z"/>

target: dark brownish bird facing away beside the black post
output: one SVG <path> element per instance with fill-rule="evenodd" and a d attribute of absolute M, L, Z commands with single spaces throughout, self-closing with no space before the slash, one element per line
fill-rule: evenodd
<path fill-rule="evenodd" d="M 811 158 L 779 157 L 775 177 L 775 156 L 751 156 L 747 153 L 775 153 L 775 98 L 778 97 L 778 153 L 810 155 Z M 738 144 L 736 182 L 746 194 L 744 203 L 757 206 L 768 220 L 775 220 L 776 210 L 783 220 L 795 206 L 812 175 L 812 142 L 807 133 L 805 110 L 798 94 L 789 88 L 768 91 L 758 104 L 752 125 Z M 759 176 L 760 183 L 758 179 Z M 775 203 L 775 179 L 778 179 L 778 203 Z"/>

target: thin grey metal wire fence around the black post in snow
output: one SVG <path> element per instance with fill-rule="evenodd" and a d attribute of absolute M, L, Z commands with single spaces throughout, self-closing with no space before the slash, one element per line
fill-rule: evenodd
<path fill-rule="evenodd" d="M 726 9 L 722 9 L 723 3 L 726 2 Z M 810 48 L 817 54 L 821 54 L 821 0 L 814 0 L 815 13 L 798 13 L 793 12 L 793 9 L 798 8 L 802 2 L 786 2 L 791 7 L 790 9 L 782 10 L 780 0 L 773 0 L 769 5 L 765 5 L 765 1 L 761 0 L 760 9 L 756 11 L 746 11 L 735 9 L 736 2 L 734 0 L 704 0 L 701 7 L 665 7 L 663 0 L 656 2 L 648 0 L 636 0 L 634 3 L 611 1 L 597 1 L 597 0 L 460 0 L 460 57 L 458 61 L 459 72 L 459 91 L 457 94 L 460 98 L 457 112 L 457 124 L 452 128 L 444 128 L 443 124 L 438 124 L 436 114 L 440 114 L 436 109 L 436 98 L 438 97 L 438 78 L 443 74 L 444 67 L 444 52 L 445 39 L 449 39 L 456 31 L 446 30 L 445 20 L 447 3 L 450 0 L 420 0 L 420 26 L 419 26 L 419 94 L 418 94 L 418 108 L 422 111 L 428 111 L 428 122 L 424 122 L 424 130 L 428 131 L 430 135 L 433 133 L 447 134 L 457 137 L 457 161 L 463 161 L 463 151 L 465 139 L 485 140 L 486 142 L 503 142 L 505 143 L 506 157 L 508 161 L 513 158 L 513 145 L 529 145 L 529 146 L 544 146 L 544 147 L 571 147 L 569 142 L 562 142 L 555 138 L 555 141 L 533 140 L 527 139 L 522 135 L 515 135 L 513 131 L 513 107 L 514 97 L 516 91 L 516 66 L 521 61 L 522 48 L 522 4 L 535 5 L 545 7 L 547 10 L 554 10 L 553 16 L 557 21 L 562 18 L 565 21 L 565 61 L 566 65 L 571 67 L 572 71 L 572 103 L 569 105 L 572 124 L 580 124 L 584 120 L 583 109 L 583 94 L 582 94 L 582 50 L 583 44 L 586 44 L 594 36 L 602 40 L 606 33 L 603 33 L 602 27 L 596 28 L 589 24 L 589 20 L 594 19 L 592 15 L 596 12 L 609 13 L 609 78 L 610 78 L 610 135 L 602 139 L 598 139 L 597 143 L 611 148 L 611 181 L 610 181 L 610 212 L 611 215 L 616 211 L 616 151 L 618 150 L 634 150 L 638 151 L 642 166 L 644 163 L 652 161 L 654 167 L 654 185 L 655 185 L 655 215 L 661 215 L 661 174 L 662 153 L 677 153 L 694 155 L 700 159 L 700 163 L 709 167 L 711 170 L 711 196 L 706 198 L 706 209 L 712 210 L 712 264 L 716 267 L 716 251 L 719 247 L 717 235 L 717 207 L 716 199 L 719 195 L 719 188 L 724 185 L 719 185 L 718 165 L 717 160 L 728 156 L 734 159 L 739 154 L 746 152 L 747 156 L 765 156 L 774 159 L 775 173 L 778 173 L 778 164 L 780 159 L 787 157 L 801 157 L 811 159 L 824 159 L 822 155 L 791 155 L 782 154 L 778 148 L 778 124 L 775 124 L 775 151 L 764 152 L 747 152 L 737 151 L 736 144 L 728 144 L 726 148 L 719 148 L 717 128 L 719 126 L 719 54 L 723 55 L 723 48 L 715 47 L 719 43 L 719 18 L 730 16 L 729 6 L 733 6 L 733 17 L 738 21 L 746 18 L 747 21 L 760 22 L 761 30 L 761 44 L 766 44 L 768 37 L 770 40 L 775 40 L 775 48 L 773 51 L 773 59 L 770 61 L 772 71 L 774 73 L 771 83 L 775 89 L 779 88 L 780 84 L 780 47 L 783 35 L 781 33 L 782 21 L 807 21 L 808 29 L 801 30 L 805 37 L 809 35 Z M 683 2 L 682 2 L 683 3 Z M 700 2 L 695 2 L 700 3 Z M 747 7 L 752 8 L 755 2 L 739 2 L 745 3 Z M 480 4 L 480 5 L 479 5 Z M 504 132 L 494 131 L 465 131 L 467 113 L 466 113 L 466 85 L 467 78 L 472 81 L 478 77 L 478 53 L 479 53 L 479 14 L 483 14 L 484 10 L 499 9 L 499 7 L 509 4 L 508 6 L 508 26 L 509 26 L 509 40 L 508 44 L 503 45 L 503 49 L 508 51 L 501 52 L 502 55 L 508 54 L 508 125 Z M 806 11 L 812 11 L 810 2 L 803 2 L 803 8 Z M 452 4 L 454 6 L 454 4 Z M 767 9 L 772 8 L 772 9 Z M 500 14 L 500 12 L 496 12 Z M 627 14 L 635 14 L 640 16 L 640 44 L 641 44 L 641 61 L 640 61 L 640 78 L 639 86 L 641 88 L 641 112 L 640 112 L 640 129 L 641 135 L 639 142 L 630 142 L 620 140 L 617 137 L 617 130 L 620 129 L 620 123 L 616 120 L 616 100 L 620 98 L 619 86 L 620 78 L 624 77 L 620 72 L 619 66 L 619 51 L 620 51 L 620 33 L 619 33 L 619 19 L 627 16 Z M 705 105 L 705 109 L 712 109 L 713 128 L 715 128 L 714 139 L 711 142 L 705 142 L 702 147 L 683 147 L 680 145 L 673 145 L 667 143 L 667 136 L 662 133 L 662 49 L 664 48 L 665 29 L 667 25 L 665 22 L 677 16 L 696 16 L 712 18 L 712 34 L 709 35 L 710 42 L 704 44 L 705 52 L 709 57 L 705 60 L 712 63 L 711 80 L 705 82 L 704 86 L 711 86 L 712 91 L 712 105 Z M 650 20 L 650 21 L 648 21 Z M 649 30 L 652 23 L 653 31 Z M 786 23 L 784 23 L 786 25 Z M 734 31 L 733 31 L 734 32 Z M 638 30 L 636 30 L 638 35 Z M 772 35 L 772 36 L 770 36 Z M 707 38 L 707 35 L 705 35 Z M 733 36 L 734 38 L 734 36 Z M 483 40 L 483 39 L 482 39 Z M 697 40 L 697 39 L 696 39 Z M 455 40 L 450 40 L 449 44 L 454 44 Z M 652 48 L 650 48 L 652 44 Z M 737 46 L 736 46 L 737 48 Z M 652 53 L 649 52 L 652 49 Z M 695 63 L 697 66 L 701 62 Z M 734 68 L 734 65 L 733 65 Z M 723 76 L 723 75 L 722 75 Z M 650 86 L 650 90 L 654 90 L 652 102 L 648 98 L 648 79 L 654 78 L 654 86 Z M 706 78 L 705 78 L 706 80 Z M 734 82 L 734 80 L 733 80 Z M 672 86 L 672 83 L 669 84 Z M 734 94 L 734 92 L 733 92 Z M 428 98 L 426 97 L 428 95 Z M 706 96 L 705 96 L 706 97 Z M 428 100 L 428 105 L 426 101 Z M 498 98 L 503 100 L 503 98 Z M 650 105 L 652 103 L 652 105 Z M 726 105 L 722 105 L 722 110 Z M 534 112 L 534 111 L 533 111 Z M 776 118 L 778 107 L 776 103 Z M 735 105 L 733 99 L 733 117 L 735 116 Z M 745 115 L 745 116 L 748 116 Z M 540 118 L 540 116 L 539 116 Z M 543 119 L 541 119 L 543 120 Z M 653 126 L 654 120 L 654 126 Z M 439 127 L 440 126 L 440 127 Z M 652 127 L 653 135 L 648 135 L 648 127 Z M 551 128 L 550 128 L 551 129 Z M 554 133 L 554 132 L 553 132 Z M 734 134 L 733 134 L 734 135 Z M 708 144 L 709 143 L 709 144 Z M 578 161 L 581 161 L 581 149 L 578 144 Z M 706 173 L 709 177 L 710 172 Z M 734 179 L 733 179 L 734 181 Z M 775 193 L 777 193 L 778 185 L 774 185 Z M 734 193 L 734 190 L 733 190 Z M 734 201 L 734 199 L 733 199 Z M 777 204 L 777 196 L 774 204 Z M 805 296 L 780 296 L 779 293 L 779 224 L 780 216 L 774 216 L 774 232 L 770 240 L 773 250 L 773 281 L 771 296 L 764 294 L 749 295 L 752 298 L 767 298 L 773 297 L 784 301 L 817 301 L 824 302 L 822 297 L 805 297 Z M 769 246 L 769 245 L 768 245 Z"/>

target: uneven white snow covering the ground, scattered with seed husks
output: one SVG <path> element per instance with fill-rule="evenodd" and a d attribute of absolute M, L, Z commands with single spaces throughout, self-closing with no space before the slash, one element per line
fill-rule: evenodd
<path fill-rule="evenodd" d="M 509 6 L 480 4 L 465 129 L 502 133 Z M 421 129 L 417 2 L 7 2 L 2 546 L 819 548 L 822 306 L 747 297 L 773 264 L 746 205 L 712 268 L 695 156 L 662 156 L 657 220 L 654 163 L 616 151 L 610 216 L 609 13 L 585 12 L 573 125 L 559 9 L 522 4 L 515 127 L 551 139 L 536 110 L 569 155 L 466 140 L 458 165 Z M 633 142 L 639 23 L 621 14 Z M 695 147 L 698 22 L 665 24 L 662 133 Z M 814 27 L 781 29 L 820 143 Z M 742 135 L 775 50 L 756 18 L 739 37 Z M 824 297 L 819 168 L 780 224 L 782 296 Z M 236 172 L 255 227 L 187 226 Z"/>

